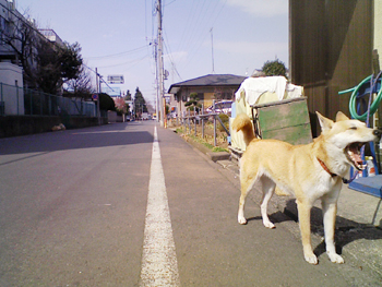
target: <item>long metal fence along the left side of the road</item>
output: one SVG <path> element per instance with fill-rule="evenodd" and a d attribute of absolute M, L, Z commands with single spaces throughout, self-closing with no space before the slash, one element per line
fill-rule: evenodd
<path fill-rule="evenodd" d="M 95 103 L 0 83 L 0 116 L 60 115 L 96 117 L 97 109 Z"/>

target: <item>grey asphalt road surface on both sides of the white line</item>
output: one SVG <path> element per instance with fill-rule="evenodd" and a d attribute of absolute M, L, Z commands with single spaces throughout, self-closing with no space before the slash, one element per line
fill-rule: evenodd
<path fill-rule="evenodd" d="M 0 139 L 0 286 L 142 285 L 154 128 Z M 157 127 L 157 135 L 177 284 L 378 286 L 322 252 L 319 265 L 306 263 L 298 226 L 284 214 L 266 229 L 249 201 L 249 224 L 239 225 L 239 179 L 172 131 Z"/>

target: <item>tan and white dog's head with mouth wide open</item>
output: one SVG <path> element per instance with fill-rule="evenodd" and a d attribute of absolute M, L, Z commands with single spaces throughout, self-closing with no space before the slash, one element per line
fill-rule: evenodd
<path fill-rule="evenodd" d="M 371 141 L 381 137 L 382 131 L 366 127 L 365 122 L 350 120 L 338 111 L 336 121 L 332 121 L 317 112 L 322 130 L 322 135 L 333 148 L 343 151 L 346 162 L 358 170 L 366 168 L 360 157 L 361 147 Z"/>

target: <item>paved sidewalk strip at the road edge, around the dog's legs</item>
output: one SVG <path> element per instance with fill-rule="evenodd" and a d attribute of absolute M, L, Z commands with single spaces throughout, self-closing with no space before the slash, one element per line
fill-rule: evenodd
<path fill-rule="evenodd" d="M 239 167 L 236 162 L 217 162 L 234 172 L 239 181 Z M 255 193 L 255 194 L 253 194 Z M 260 204 L 261 192 L 252 191 L 252 200 Z M 291 196 L 274 195 L 270 201 L 270 214 L 279 211 L 297 222 L 297 206 Z M 274 208 L 272 208 L 274 207 Z M 323 253 L 323 224 L 321 202 L 317 202 L 311 214 L 313 247 L 315 253 Z M 321 243 L 320 243 L 321 241 Z M 336 246 L 344 255 L 345 263 L 381 276 L 382 280 L 382 199 L 361 193 L 343 184 L 338 200 L 336 219 Z"/>

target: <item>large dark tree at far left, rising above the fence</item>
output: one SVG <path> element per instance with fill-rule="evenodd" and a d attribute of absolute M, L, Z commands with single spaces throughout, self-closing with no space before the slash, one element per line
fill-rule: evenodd
<path fill-rule="evenodd" d="M 50 43 L 27 19 L 27 12 L 11 14 L 0 25 L 0 46 L 14 52 L 10 59 L 22 65 L 25 86 L 57 94 L 64 82 L 80 76 L 81 47 L 77 43 L 64 43 L 63 47 Z"/>

